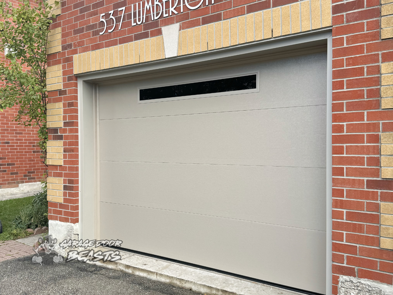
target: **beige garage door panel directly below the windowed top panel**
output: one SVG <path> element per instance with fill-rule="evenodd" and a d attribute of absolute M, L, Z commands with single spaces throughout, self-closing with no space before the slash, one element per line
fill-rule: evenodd
<path fill-rule="evenodd" d="M 100 120 L 100 160 L 325 168 L 325 129 L 326 105 Z"/>

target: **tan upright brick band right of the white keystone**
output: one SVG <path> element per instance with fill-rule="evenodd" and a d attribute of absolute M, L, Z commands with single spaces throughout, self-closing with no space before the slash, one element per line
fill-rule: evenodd
<path fill-rule="evenodd" d="M 178 55 L 203 52 L 327 26 L 331 26 L 330 1 L 307 0 L 180 31 Z"/>

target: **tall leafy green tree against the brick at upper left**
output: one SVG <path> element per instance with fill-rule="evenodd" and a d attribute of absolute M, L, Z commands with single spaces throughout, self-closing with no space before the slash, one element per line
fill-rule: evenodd
<path fill-rule="evenodd" d="M 10 61 L 0 63 L 0 111 L 19 106 L 14 118 L 18 124 L 38 126 L 38 145 L 46 164 L 46 45 L 49 26 L 55 6 L 46 0 L 18 0 L 18 7 L 11 2 L 0 1 L 0 50 Z M 24 67 L 28 67 L 26 70 Z"/>

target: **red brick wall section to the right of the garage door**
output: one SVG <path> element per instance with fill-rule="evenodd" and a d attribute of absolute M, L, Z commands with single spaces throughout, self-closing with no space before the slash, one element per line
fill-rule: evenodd
<path fill-rule="evenodd" d="M 333 294 L 339 275 L 392 284 L 393 251 L 379 248 L 380 201 L 393 181 L 380 178 L 380 133 L 393 111 L 380 107 L 380 64 L 393 40 L 380 39 L 379 0 L 333 3 Z"/>

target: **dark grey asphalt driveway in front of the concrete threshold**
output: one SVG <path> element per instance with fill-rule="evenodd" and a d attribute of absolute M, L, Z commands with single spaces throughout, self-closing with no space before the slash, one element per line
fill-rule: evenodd
<path fill-rule="evenodd" d="M 122 271 L 72 260 L 54 263 L 53 254 L 43 257 L 44 265 L 31 256 L 0 262 L 0 294 L 4 295 L 196 295 Z"/>

